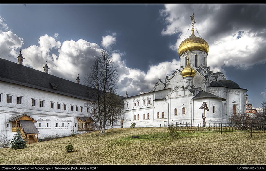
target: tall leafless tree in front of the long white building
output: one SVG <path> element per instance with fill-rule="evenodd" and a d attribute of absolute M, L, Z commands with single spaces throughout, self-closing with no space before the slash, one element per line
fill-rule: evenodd
<path fill-rule="evenodd" d="M 102 49 L 100 54 L 95 56 L 93 65 L 90 67 L 90 74 L 87 74 L 84 81 L 88 86 L 88 97 L 95 102 L 88 102 L 88 104 L 94 105 L 93 119 L 99 123 L 101 133 L 105 130 L 108 101 L 112 98 L 108 94 L 116 93 L 118 89 L 117 72 L 111 55 Z"/>

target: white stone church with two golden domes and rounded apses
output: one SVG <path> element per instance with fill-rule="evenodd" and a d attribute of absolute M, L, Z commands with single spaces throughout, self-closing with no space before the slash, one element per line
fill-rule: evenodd
<path fill-rule="evenodd" d="M 124 98 L 124 127 L 160 127 L 172 123 L 226 123 L 231 114 L 246 111 L 246 92 L 226 80 L 223 72 L 213 73 L 207 66 L 208 43 L 194 34 L 179 46 L 179 69 L 158 79 L 153 89 Z"/>

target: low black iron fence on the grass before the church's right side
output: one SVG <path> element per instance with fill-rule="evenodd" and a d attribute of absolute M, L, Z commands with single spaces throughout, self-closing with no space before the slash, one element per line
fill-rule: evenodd
<path fill-rule="evenodd" d="M 230 124 L 230 123 L 206 123 L 203 124 L 189 124 L 188 122 L 179 122 L 175 124 L 168 124 L 170 127 L 176 128 L 180 131 L 216 131 L 216 132 L 249 132 L 251 133 L 266 133 L 266 124 L 249 123 L 249 124 Z"/>

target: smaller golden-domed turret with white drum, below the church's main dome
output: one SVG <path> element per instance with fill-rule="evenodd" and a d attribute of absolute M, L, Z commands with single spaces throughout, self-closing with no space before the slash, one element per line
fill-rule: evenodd
<path fill-rule="evenodd" d="M 183 79 L 184 79 L 184 86 L 187 87 L 188 85 L 190 85 L 190 87 L 192 87 L 193 78 L 196 75 L 196 71 L 194 70 L 194 68 L 190 66 L 189 57 L 187 58 L 186 67 L 184 68 L 184 70 L 182 70 L 181 75 L 183 76 Z"/>

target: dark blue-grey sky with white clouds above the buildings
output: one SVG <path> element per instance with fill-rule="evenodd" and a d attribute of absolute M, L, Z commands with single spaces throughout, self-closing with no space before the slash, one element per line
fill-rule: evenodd
<path fill-rule="evenodd" d="M 74 82 L 79 74 L 83 83 L 105 48 L 118 66 L 120 95 L 133 96 L 180 68 L 177 49 L 194 13 L 210 46 L 210 70 L 248 89 L 249 102 L 260 107 L 265 11 L 265 4 L 0 4 L 0 57 L 17 62 L 21 49 L 24 65 L 43 71 L 47 61 L 49 74 Z"/>

